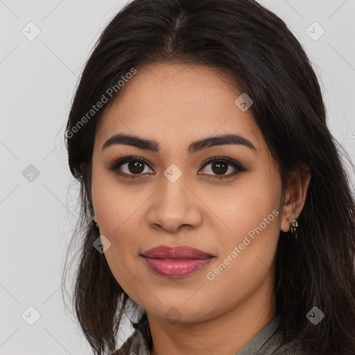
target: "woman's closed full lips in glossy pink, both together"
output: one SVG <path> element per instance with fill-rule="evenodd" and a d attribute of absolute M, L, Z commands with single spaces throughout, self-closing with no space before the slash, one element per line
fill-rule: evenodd
<path fill-rule="evenodd" d="M 181 245 L 175 248 L 161 245 L 142 254 L 146 264 L 159 275 L 184 277 L 205 268 L 214 255 Z"/>

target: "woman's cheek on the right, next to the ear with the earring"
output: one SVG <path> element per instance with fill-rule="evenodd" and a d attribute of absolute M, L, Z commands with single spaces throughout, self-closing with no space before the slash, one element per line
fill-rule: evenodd
<path fill-rule="evenodd" d="M 209 268 L 209 276 L 215 277 L 211 282 L 224 285 L 234 280 L 234 286 L 225 288 L 225 293 L 236 292 L 243 297 L 253 292 L 269 272 L 279 238 L 280 196 L 277 175 L 263 174 L 250 174 L 224 196 L 220 216 L 230 231 L 223 236 L 223 252 L 217 267 Z"/>

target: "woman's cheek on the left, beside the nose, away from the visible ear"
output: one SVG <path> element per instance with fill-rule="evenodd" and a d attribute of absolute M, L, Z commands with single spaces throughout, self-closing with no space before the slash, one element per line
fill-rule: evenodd
<path fill-rule="evenodd" d="M 139 207 L 148 198 L 145 193 L 120 187 L 114 179 L 93 172 L 92 202 L 98 219 L 100 234 L 111 243 L 105 252 L 105 258 L 115 279 L 129 291 L 133 286 L 134 275 L 139 275 L 137 259 L 139 250 L 139 218 L 143 209 Z"/>

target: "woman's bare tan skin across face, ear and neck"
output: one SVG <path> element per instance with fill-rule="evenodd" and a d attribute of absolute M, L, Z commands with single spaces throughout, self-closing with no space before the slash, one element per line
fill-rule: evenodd
<path fill-rule="evenodd" d="M 111 243 L 107 263 L 123 290 L 147 311 L 153 355 L 234 355 L 274 316 L 272 283 L 279 231 L 304 206 L 309 178 L 282 191 L 279 172 L 250 110 L 234 103 L 241 95 L 226 73 L 187 64 L 150 64 L 120 90 L 103 112 L 92 157 L 92 205 L 100 234 Z M 113 135 L 155 139 L 159 153 L 116 144 Z M 192 141 L 236 133 L 256 150 L 241 145 L 187 153 Z M 110 171 L 122 156 L 142 157 L 149 166 L 140 178 Z M 227 157 L 246 168 L 232 178 L 218 176 L 210 157 Z M 132 158 L 133 161 L 135 161 Z M 182 175 L 171 182 L 164 171 L 175 164 Z M 228 170 L 222 175 L 235 171 Z M 121 171 L 134 175 L 128 164 Z M 205 173 L 205 175 L 201 175 Z M 211 177 L 212 176 L 212 177 Z M 279 212 L 262 232 L 211 280 L 213 271 L 264 218 Z M 168 278 L 140 256 L 157 245 L 189 245 L 214 255 L 197 272 Z M 174 308 L 173 308 L 174 307 Z M 175 315 L 172 322 L 169 315 Z"/>

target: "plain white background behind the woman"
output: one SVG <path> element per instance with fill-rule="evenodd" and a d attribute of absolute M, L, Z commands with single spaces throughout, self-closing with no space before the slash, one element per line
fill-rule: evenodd
<path fill-rule="evenodd" d="M 354 162 L 355 1 L 260 2 L 306 49 L 331 132 Z M 92 354 L 60 291 L 78 209 L 64 125 L 94 42 L 122 6 L 118 0 L 0 0 L 0 355 Z M 33 41 L 21 33 L 30 21 L 41 31 Z M 314 21 L 325 30 L 317 41 L 306 33 Z M 29 164 L 40 173 L 33 182 L 22 175 Z M 28 306 L 40 313 L 33 325 L 21 318 Z"/>

